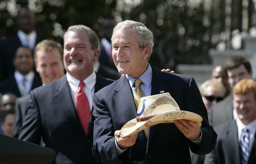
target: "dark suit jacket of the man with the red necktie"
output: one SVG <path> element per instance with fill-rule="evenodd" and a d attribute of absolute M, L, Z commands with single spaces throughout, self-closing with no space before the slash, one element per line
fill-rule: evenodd
<path fill-rule="evenodd" d="M 97 75 L 95 92 L 112 80 Z M 19 139 L 55 151 L 52 164 L 97 164 L 92 155 L 93 117 L 88 134 L 83 131 L 73 104 L 66 75 L 30 92 L 25 121 Z"/>

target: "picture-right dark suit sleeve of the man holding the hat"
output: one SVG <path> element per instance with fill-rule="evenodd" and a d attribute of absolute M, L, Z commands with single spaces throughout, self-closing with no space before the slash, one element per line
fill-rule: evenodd
<path fill-rule="evenodd" d="M 199 155 L 210 153 L 215 148 L 217 134 L 214 129 L 209 125 L 207 110 L 205 108 L 200 91 L 194 78 L 190 79 L 186 109 L 199 114 L 203 118 L 201 127 L 202 142 L 200 144 L 195 144 L 190 141 L 189 146 L 191 151 Z"/>

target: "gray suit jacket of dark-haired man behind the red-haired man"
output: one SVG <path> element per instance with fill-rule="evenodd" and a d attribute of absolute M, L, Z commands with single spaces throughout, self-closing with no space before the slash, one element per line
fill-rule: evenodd
<path fill-rule="evenodd" d="M 234 120 L 233 116 L 233 96 L 229 94 L 224 100 L 213 105 L 209 115 L 210 125 L 216 127 L 228 121 Z"/>

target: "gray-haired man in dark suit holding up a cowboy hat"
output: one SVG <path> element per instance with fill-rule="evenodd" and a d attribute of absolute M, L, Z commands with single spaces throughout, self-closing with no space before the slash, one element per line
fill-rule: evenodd
<path fill-rule="evenodd" d="M 93 96 L 96 160 L 104 164 L 191 164 L 190 149 L 198 154 L 211 152 L 217 135 L 208 123 L 195 80 L 161 72 L 148 63 L 153 34 L 142 23 L 131 20 L 118 23 L 111 40 L 114 63 L 125 76 Z M 122 126 L 136 118 L 133 96 L 136 79 L 143 82 L 140 89 L 146 96 L 169 92 L 180 109 L 201 115 L 202 123 L 176 120 L 175 124 L 150 127 L 148 135 L 141 131 L 120 137 Z"/>

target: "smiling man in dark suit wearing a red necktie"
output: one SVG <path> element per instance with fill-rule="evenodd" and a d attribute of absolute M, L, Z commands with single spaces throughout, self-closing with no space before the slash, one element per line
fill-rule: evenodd
<path fill-rule="evenodd" d="M 19 139 L 55 151 L 52 164 L 97 164 L 92 155 L 93 117 L 87 134 L 77 114 L 77 91 L 81 82 L 92 109 L 92 94 L 112 83 L 93 71 L 97 60 L 98 36 L 84 25 L 70 26 L 64 35 L 64 66 L 67 73 L 50 84 L 30 92 L 25 121 Z"/>

